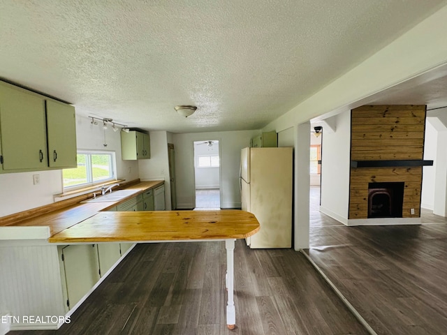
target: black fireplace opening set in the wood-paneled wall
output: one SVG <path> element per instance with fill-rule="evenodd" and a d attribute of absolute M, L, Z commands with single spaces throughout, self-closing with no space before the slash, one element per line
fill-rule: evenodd
<path fill-rule="evenodd" d="M 368 184 L 368 218 L 402 218 L 404 182 Z"/>

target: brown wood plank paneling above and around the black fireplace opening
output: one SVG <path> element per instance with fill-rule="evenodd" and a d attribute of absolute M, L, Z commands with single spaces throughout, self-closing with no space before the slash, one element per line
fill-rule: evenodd
<path fill-rule="evenodd" d="M 351 161 L 422 160 L 425 105 L 365 105 L 351 110 Z M 404 181 L 402 217 L 420 216 L 422 168 L 351 168 L 349 218 L 367 218 L 368 184 Z M 415 213 L 411 214 L 411 209 Z"/>

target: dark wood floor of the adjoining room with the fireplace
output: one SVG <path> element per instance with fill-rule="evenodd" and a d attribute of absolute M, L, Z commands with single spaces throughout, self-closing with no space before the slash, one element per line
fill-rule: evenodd
<path fill-rule="evenodd" d="M 314 215 L 310 258 L 377 334 L 447 334 L 446 218 L 346 227 Z"/>

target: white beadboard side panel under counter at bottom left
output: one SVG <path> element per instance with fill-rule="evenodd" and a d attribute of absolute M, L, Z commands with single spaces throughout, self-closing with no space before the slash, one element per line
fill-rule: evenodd
<path fill-rule="evenodd" d="M 57 246 L 0 247 L 0 269 L 0 311 L 13 318 L 10 329 L 55 329 L 57 322 L 30 317 L 65 315 Z"/>

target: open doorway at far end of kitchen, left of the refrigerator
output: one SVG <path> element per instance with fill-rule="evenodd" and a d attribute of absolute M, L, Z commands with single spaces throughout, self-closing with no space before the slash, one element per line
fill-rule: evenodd
<path fill-rule="evenodd" d="M 195 209 L 220 209 L 219 140 L 194 142 Z"/>

